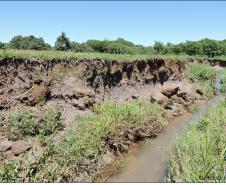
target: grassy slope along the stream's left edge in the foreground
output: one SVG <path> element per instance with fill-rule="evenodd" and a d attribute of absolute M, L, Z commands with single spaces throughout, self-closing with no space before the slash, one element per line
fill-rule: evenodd
<path fill-rule="evenodd" d="M 0 182 L 92 181 L 104 165 L 107 150 L 117 155 L 133 142 L 156 136 L 164 114 L 163 108 L 147 101 L 95 105 L 93 114 L 78 116 L 58 143 L 49 142 L 35 164 L 5 161 L 0 166 Z M 21 171 L 26 172 L 26 178 L 20 177 Z"/>

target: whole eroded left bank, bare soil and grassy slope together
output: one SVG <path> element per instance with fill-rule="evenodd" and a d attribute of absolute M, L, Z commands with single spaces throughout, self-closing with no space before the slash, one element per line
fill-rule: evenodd
<path fill-rule="evenodd" d="M 189 77 L 179 60 L 8 58 L 0 64 L 4 182 L 90 182 L 134 143 L 156 137 L 166 114 L 180 116 L 215 92 L 210 66 L 192 65 Z M 15 166 L 8 177 L 5 169 Z"/>

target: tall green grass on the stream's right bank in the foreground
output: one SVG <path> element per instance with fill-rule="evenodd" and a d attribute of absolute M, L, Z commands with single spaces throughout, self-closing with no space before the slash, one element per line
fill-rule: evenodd
<path fill-rule="evenodd" d="M 226 100 L 211 108 L 176 141 L 169 158 L 174 182 L 225 182 Z"/>

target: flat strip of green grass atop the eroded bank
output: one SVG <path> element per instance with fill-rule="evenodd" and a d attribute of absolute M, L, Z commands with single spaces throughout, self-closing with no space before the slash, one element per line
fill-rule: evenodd
<path fill-rule="evenodd" d="M 13 50 L 13 49 L 0 49 L 0 58 L 38 58 L 38 59 L 104 59 L 104 60 L 117 60 L 117 61 L 135 61 L 147 60 L 153 58 L 166 58 L 166 59 L 181 59 L 187 60 L 191 58 L 187 55 L 120 55 L 120 54 L 107 54 L 107 53 L 75 53 L 71 51 L 37 51 L 37 50 Z"/>

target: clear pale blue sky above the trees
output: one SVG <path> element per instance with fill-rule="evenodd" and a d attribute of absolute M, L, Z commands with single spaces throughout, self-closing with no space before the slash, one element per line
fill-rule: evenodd
<path fill-rule="evenodd" d="M 223 40 L 226 2 L 0 2 L 2 42 L 34 35 L 54 45 L 62 31 L 76 42 L 120 37 L 145 46 L 154 41 Z"/>

